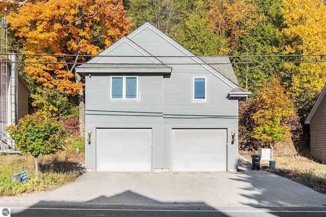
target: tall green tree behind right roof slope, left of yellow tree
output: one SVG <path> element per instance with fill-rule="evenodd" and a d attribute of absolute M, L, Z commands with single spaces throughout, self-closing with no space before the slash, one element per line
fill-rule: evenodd
<path fill-rule="evenodd" d="M 263 81 L 267 78 L 278 76 L 283 82 L 289 82 L 284 74 L 280 61 L 286 59 L 281 57 L 251 57 L 252 55 L 279 55 L 281 41 L 278 37 L 283 26 L 281 13 L 282 1 L 252 1 L 258 13 L 256 14 L 258 24 L 249 29 L 249 34 L 242 36 L 238 42 L 234 55 L 244 55 L 249 57 L 239 57 L 233 59 L 234 71 L 240 85 L 253 92 L 252 96 L 262 88 Z M 256 63 L 262 61 L 263 63 Z M 249 63 L 248 63 L 249 62 Z M 268 62 L 268 63 L 264 63 Z M 248 63 L 248 64 L 247 64 Z M 275 64 L 273 64 L 275 63 Z"/>

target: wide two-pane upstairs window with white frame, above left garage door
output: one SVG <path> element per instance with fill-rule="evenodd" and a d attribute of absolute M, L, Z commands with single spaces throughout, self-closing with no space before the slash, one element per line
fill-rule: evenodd
<path fill-rule="evenodd" d="M 137 99 L 138 85 L 136 76 L 111 77 L 111 99 Z"/>

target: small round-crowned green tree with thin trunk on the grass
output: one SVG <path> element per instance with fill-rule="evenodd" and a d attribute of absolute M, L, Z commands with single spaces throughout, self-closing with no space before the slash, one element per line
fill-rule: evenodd
<path fill-rule="evenodd" d="M 29 153 L 35 158 L 36 180 L 39 179 L 38 156 L 64 150 L 67 137 L 61 122 L 45 112 L 28 114 L 19 120 L 18 125 L 9 126 L 7 131 L 15 140 L 17 150 Z"/>

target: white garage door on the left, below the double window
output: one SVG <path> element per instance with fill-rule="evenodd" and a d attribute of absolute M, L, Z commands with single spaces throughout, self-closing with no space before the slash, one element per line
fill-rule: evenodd
<path fill-rule="evenodd" d="M 152 130 L 97 129 L 96 171 L 152 171 Z"/>

